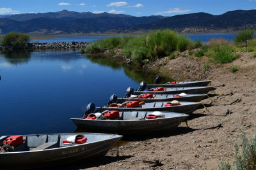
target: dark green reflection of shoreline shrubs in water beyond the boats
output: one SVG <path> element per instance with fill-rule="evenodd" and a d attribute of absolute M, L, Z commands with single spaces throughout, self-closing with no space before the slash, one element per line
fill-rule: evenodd
<path fill-rule="evenodd" d="M 113 69 L 124 69 L 124 73 L 132 78 L 132 80 L 141 82 L 146 81 L 147 83 L 154 83 L 154 80 L 157 76 L 157 73 L 152 73 L 148 71 L 148 69 L 143 69 L 143 67 L 139 66 L 127 66 L 124 61 L 118 61 L 116 59 L 106 59 L 104 56 L 99 55 L 87 55 L 86 59 L 90 60 L 90 62 L 97 63 L 100 66 L 108 66 Z M 168 78 L 164 77 L 166 81 Z M 134 87 L 138 88 L 138 87 Z"/>

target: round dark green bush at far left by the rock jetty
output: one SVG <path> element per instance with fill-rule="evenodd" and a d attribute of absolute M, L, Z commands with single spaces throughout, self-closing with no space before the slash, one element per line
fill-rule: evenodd
<path fill-rule="evenodd" d="M 3 36 L 1 39 L 2 45 L 15 46 L 15 47 L 25 47 L 28 46 L 30 38 L 28 34 L 19 32 L 10 32 Z"/>

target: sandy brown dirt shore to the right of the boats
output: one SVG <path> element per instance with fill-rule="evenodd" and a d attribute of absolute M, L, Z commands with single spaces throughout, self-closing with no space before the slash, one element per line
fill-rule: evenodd
<path fill-rule="evenodd" d="M 172 133 L 129 136 L 119 143 L 119 157 L 117 147 L 113 146 L 106 157 L 68 164 L 61 169 L 218 169 L 221 159 L 233 163 L 234 143 L 241 143 L 242 130 L 252 138 L 256 128 L 256 58 L 248 52 L 239 54 L 240 58 L 229 64 L 209 63 L 208 71 L 204 69 L 206 57 L 184 57 L 188 52 L 148 65 L 175 80 L 212 80 L 212 86 L 225 87 L 209 92 L 211 99 L 202 102 L 211 113 L 203 107 L 194 111 L 188 118 L 189 127 L 182 123 Z M 235 65 L 239 71 L 232 73 L 230 66 Z M 214 96 L 230 92 L 232 96 Z M 229 114 L 223 116 L 227 110 Z M 220 124 L 221 127 L 207 129 Z M 155 160 L 163 165 L 154 167 L 148 162 Z"/>

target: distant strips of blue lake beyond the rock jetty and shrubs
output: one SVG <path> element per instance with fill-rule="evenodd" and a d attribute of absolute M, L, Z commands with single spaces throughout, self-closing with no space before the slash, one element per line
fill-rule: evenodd
<path fill-rule="evenodd" d="M 234 34 L 193 34 L 193 35 L 185 35 L 188 36 L 188 38 L 192 39 L 193 41 L 198 40 L 198 41 L 204 41 L 207 43 L 209 39 L 211 38 L 224 38 L 228 40 L 232 40 L 235 38 Z M 82 37 L 74 37 L 74 38 L 54 38 L 54 39 L 33 39 L 33 41 L 38 41 L 40 43 L 52 43 L 52 42 L 72 42 L 72 41 L 77 41 L 77 42 L 92 42 L 97 39 L 101 38 L 108 38 L 109 36 L 82 36 Z"/>

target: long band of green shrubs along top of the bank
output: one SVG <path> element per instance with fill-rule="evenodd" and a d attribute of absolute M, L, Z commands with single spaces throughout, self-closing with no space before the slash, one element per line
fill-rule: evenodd
<path fill-rule="evenodd" d="M 205 45 L 202 41 L 193 42 L 185 36 L 179 36 L 175 31 L 164 29 L 143 36 L 99 39 L 81 51 L 90 54 L 118 55 L 145 64 L 167 56 L 174 59 L 177 54 L 188 50 L 189 55 L 193 57 L 205 55 L 209 62 L 228 63 L 239 57 L 237 52 L 256 51 L 256 39 L 253 38 L 253 34 L 252 30 L 244 30 L 239 32 L 232 42 L 212 38 Z"/>

